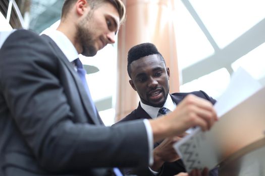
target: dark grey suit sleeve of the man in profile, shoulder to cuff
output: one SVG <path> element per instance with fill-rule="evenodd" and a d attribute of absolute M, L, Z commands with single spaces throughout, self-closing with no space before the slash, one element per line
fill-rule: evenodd
<path fill-rule="evenodd" d="M 76 122 L 58 58 L 38 35 L 11 34 L 0 50 L 0 89 L 37 162 L 52 171 L 148 165 L 142 120 L 114 127 Z"/>

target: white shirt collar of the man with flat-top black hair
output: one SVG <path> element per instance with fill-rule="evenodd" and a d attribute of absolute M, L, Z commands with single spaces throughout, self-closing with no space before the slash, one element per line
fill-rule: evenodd
<path fill-rule="evenodd" d="M 145 105 L 144 103 L 142 103 L 140 101 L 140 104 L 141 104 L 141 107 L 142 109 L 152 118 L 156 118 L 157 117 L 157 113 L 159 111 L 160 108 L 157 108 L 157 107 L 152 107 L 152 106 L 149 106 L 149 105 Z M 168 95 L 168 98 L 163 106 L 164 108 L 167 108 L 169 109 L 170 111 L 174 111 L 175 108 L 177 107 L 177 105 L 173 102 L 170 94 Z"/>

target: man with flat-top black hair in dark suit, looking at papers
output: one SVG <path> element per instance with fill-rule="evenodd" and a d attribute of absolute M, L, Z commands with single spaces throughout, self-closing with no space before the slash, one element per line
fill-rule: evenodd
<path fill-rule="evenodd" d="M 172 112 L 190 94 L 203 98 L 211 104 L 216 102 L 203 91 L 169 94 L 170 69 L 166 66 L 161 53 L 152 43 L 142 43 L 129 50 L 127 70 L 131 78 L 129 82 L 132 88 L 137 91 L 140 102 L 138 108 L 120 122 L 141 118 L 155 119 L 161 115 L 161 108 L 167 108 L 167 111 Z M 151 171 L 157 174 L 160 171 L 162 175 L 173 175 L 186 171 L 173 148 L 173 143 L 181 137 L 167 138 L 160 145 L 158 145 L 159 143 L 154 145 L 154 163 L 150 167 Z M 211 171 L 210 174 L 218 175 L 217 170 Z"/>

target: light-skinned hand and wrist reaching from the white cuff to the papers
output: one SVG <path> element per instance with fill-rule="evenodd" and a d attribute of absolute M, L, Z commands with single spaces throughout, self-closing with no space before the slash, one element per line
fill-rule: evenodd
<path fill-rule="evenodd" d="M 190 94 L 172 113 L 149 121 L 154 141 L 159 141 L 180 135 L 194 126 L 200 126 L 203 131 L 209 130 L 217 120 L 216 111 L 209 101 Z"/>

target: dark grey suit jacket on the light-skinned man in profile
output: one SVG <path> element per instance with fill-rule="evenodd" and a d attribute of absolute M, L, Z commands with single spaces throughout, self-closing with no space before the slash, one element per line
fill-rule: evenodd
<path fill-rule="evenodd" d="M 105 127 L 48 36 L 17 30 L 0 50 L 0 175 L 111 175 L 148 165 L 142 120 Z M 139 142 L 140 141 L 140 142 Z"/>

